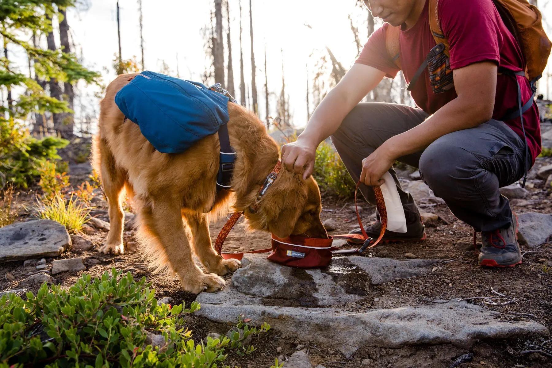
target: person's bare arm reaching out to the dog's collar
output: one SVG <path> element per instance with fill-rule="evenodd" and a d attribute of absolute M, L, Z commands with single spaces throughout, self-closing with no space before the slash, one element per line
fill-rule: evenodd
<path fill-rule="evenodd" d="M 374 89 L 385 72 L 360 63 L 354 64 L 337 86 L 322 100 L 305 130 L 295 142 L 282 147 L 284 167 L 306 179 L 312 173 L 316 148 L 341 125 L 345 116 Z"/>

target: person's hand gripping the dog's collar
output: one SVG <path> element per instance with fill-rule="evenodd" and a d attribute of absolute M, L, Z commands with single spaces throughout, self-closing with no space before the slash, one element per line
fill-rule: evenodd
<path fill-rule="evenodd" d="M 282 164 L 290 172 L 303 173 L 303 179 L 306 179 L 314 168 L 316 147 L 314 142 L 299 137 L 282 147 Z"/>

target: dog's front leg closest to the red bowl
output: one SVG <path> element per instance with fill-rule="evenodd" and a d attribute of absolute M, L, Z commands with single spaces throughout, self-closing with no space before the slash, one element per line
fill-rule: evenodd
<path fill-rule="evenodd" d="M 240 268 L 239 260 L 224 259 L 211 246 L 209 223 L 205 214 L 184 212 L 184 217 L 192 232 L 192 243 L 195 254 L 208 272 L 222 276 L 228 273 L 228 271 L 233 272 Z"/>

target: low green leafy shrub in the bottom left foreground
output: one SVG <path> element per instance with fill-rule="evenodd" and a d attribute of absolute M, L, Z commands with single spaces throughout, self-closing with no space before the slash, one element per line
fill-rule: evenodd
<path fill-rule="evenodd" d="M 84 274 L 68 290 L 44 284 L 26 301 L 0 298 L 0 367 L 226 367 L 219 364 L 230 339 L 194 344 L 184 328 L 197 302 L 186 310 L 158 306 L 145 277 L 118 276 L 115 269 L 94 280 Z M 164 344 L 146 345 L 147 333 Z"/>

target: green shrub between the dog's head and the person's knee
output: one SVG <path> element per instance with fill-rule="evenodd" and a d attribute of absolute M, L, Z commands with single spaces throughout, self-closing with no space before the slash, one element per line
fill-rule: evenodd
<path fill-rule="evenodd" d="M 330 195 L 348 198 L 354 195 L 356 184 L 347 172 L 345 165 L 333 147 L 326 142 L 320 143 L 316 150 L 316 160 L 312 176 L 320 190 Z"/>

